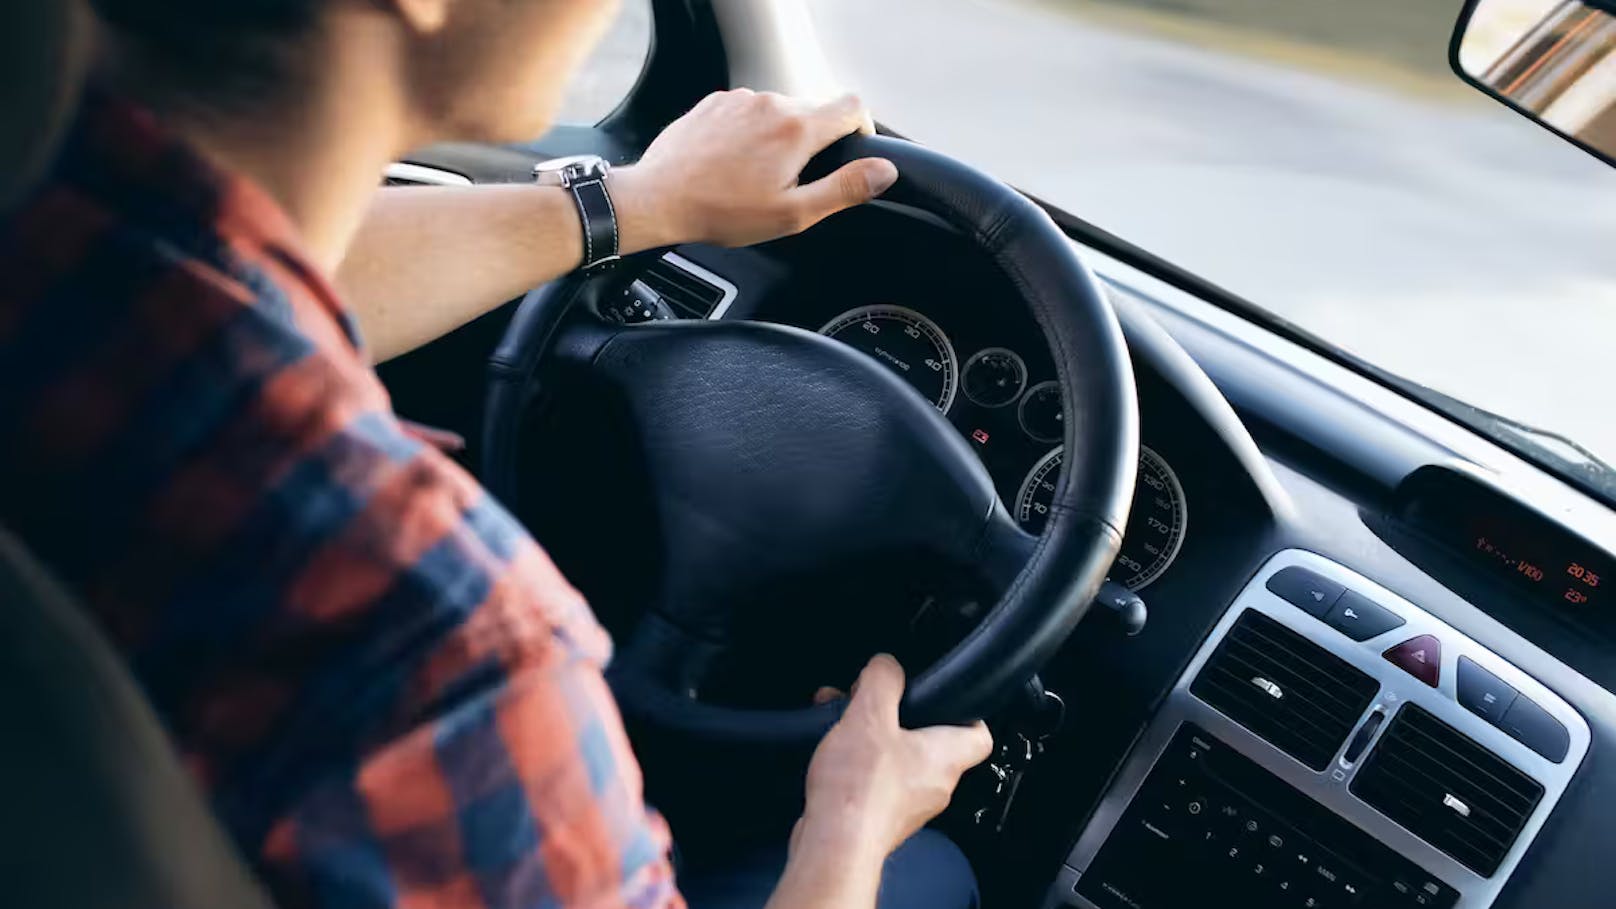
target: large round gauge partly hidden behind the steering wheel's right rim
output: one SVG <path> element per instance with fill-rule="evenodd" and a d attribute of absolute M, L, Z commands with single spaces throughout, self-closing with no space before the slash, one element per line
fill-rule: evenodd
<path fill-rule="evenodd" d="M 1049 505 L 1055 498 L 1063 453 L 1065 448 L 1055 448 L 1044 454 L 1021 480 L 1021 492 L 1015 497 L 1015 518 L 1029 534 L 1042 534 L 1049 522 Z M 1112 564 L 1112 581 L 1139 590 L 1160 577 L 1178 556 L 1188 522 L 1189 511 L 1178 474 L 1160 454 L 1141 445 L 1139 482 L 1133 490 L 1122 552 Z"/>

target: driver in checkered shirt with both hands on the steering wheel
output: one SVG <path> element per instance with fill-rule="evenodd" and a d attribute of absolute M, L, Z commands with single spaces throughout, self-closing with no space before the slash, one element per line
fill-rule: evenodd
<path fill-rule="evenodd" d="M 0 228 L 0 521 L 123 650 L 281 906 L 680 906 L 604 632 L 372 369 L 585 260 L 567 189 L 375 186 L 427 142 L 543 133 L 616 5 L 94 6 L 94 86 Z M 703 100 L 609 176 L 621 252 L 879 196 L 882 160 L 795 180 L 866 121 Z M 902 691 L 869 663 L 784 870 L 711 904 L 973 901 L 958 851 L 911 836 L 989 734 L 902 729 Z"/>

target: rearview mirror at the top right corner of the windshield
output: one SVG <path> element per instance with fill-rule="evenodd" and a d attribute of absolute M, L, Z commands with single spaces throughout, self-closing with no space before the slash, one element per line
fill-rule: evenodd
<path fill-rule="evenodd" d="M 1616 0 L 1469 0 L 1459 76 L 1616 165 Z"/>

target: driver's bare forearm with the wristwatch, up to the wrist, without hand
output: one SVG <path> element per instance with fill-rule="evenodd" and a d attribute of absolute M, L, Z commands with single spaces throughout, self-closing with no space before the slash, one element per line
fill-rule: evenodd
<path fill-rule="evenodd" d="M 621 249 L 672 243 L 633 168 L 611 178 Z M 556 186 L 410 186 L 377 194 L 338 285 L 380 362 L 556 280 L 583 259 L 572 196 Z"/>

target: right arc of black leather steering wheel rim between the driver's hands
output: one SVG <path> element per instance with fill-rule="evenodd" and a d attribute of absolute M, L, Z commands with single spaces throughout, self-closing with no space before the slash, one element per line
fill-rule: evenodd
<path fill-rule="evenodd" d="M 1065 642 L 1117 558 L 1139 458 L 1133 364 L 1099 280 L 1042 209 L 947 155 L 886 137 L 837 142 L 805 180 L 863 157 L 898 165 L 886 201 L 941 217 L 1010 280 L 1050 345 L 1067 401 L 1065 469 L 1037 548 L 987 618 L 908 691 L 910 704 L 983 717 Z M 913 720 L 945 717 L 916 710 Z"/>

